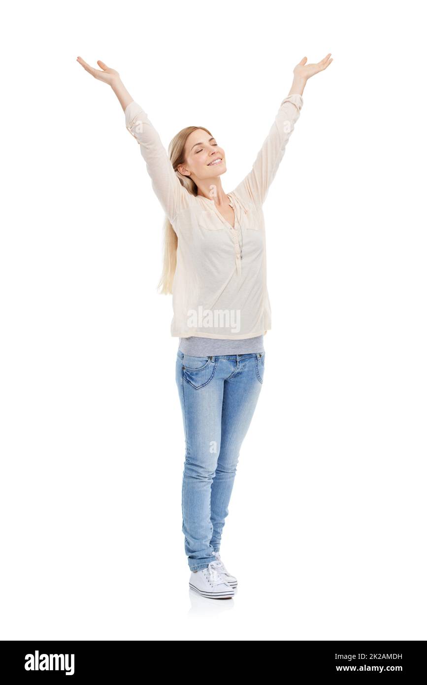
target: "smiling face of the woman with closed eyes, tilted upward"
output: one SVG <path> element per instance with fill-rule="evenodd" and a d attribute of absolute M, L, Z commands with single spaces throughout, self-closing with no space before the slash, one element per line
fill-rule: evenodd
<path fill-rule="evenodd" d="M 209 179 L 220 176 L 227 171 L 225 153 L 211 138 L 207 131 L 196 129 L 190 133 L 185 142 L 186 164 L 180 164 L 178 171 L 193 179 Z"/>

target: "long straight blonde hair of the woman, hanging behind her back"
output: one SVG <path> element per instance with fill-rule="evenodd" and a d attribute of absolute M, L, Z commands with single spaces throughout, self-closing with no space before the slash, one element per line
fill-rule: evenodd
<path fill-rule="evenodd" d="M 190 176 L 183 176 L 179 173 L 177 167 L 179 164 L 185 164 L 185 142 L 187 142 L 190 133 L 197 129 L 203 129 L 209 136 L 212 136 L 211 132 L 204 126 L 187 126 L 184 129 L 181 129 L 181 131 L 172 138 L 168 147 L 168 155 L 174 172 L 177 174 L 181 186 L 184 186 L 185 190 L 188 190 L 192 195 L 197 195 L 196 184 Z M 161 272 L 157 290 L 159 290 L 159 295 L 171 295 L 174 273 L 177 268 L 178 236 L 174 232 L 172 224 L 167 216 L 164 221 L 163 231 L 163 271 Z"/>

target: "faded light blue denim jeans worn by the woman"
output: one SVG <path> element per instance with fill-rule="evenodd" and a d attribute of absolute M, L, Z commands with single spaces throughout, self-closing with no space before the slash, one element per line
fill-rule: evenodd
<path fill-rule="evenodd" d="M 240 447 L 257 405 L 265 352 L 192 357 L 177 353 L 185 434 L 182 531 L 192 571 L 219 551 Z"/>

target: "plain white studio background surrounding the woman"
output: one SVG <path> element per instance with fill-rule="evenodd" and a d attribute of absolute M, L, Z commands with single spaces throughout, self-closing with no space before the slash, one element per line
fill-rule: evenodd
<path fill-rule="evenodd" d="M 426 640 L 425 55 L 415 2 L 3 14 L 1 639 Z M 248 173 L 333 62 L 264 205 L 272 330 L 221 554 L 188 588 L 164 214 L 109 86 Z M 227 613 L 227 616 L 225 614 Z"/>

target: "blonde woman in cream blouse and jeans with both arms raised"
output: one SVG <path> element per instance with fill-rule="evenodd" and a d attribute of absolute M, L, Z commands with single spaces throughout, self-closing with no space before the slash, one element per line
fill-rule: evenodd
<path fill-rule="evenodd" d="M 185 433 L 182 531 L 190 588 L 227 599 L 237 580 L 219 554 L 240 447 L 253 417 L 270 329 L 262 206 L 302 108 L 302 92 L 333 61 L 296 65 L 252 170 L 229 193 L 225 152 L 203 126 L 182 129 L 168 153 L 146 112 L 114 69 L 77 61 L 116 93 L 166 214 L 159 286 L 172 293 L 171 334 L 179 338 L 176 382 Z"/>

